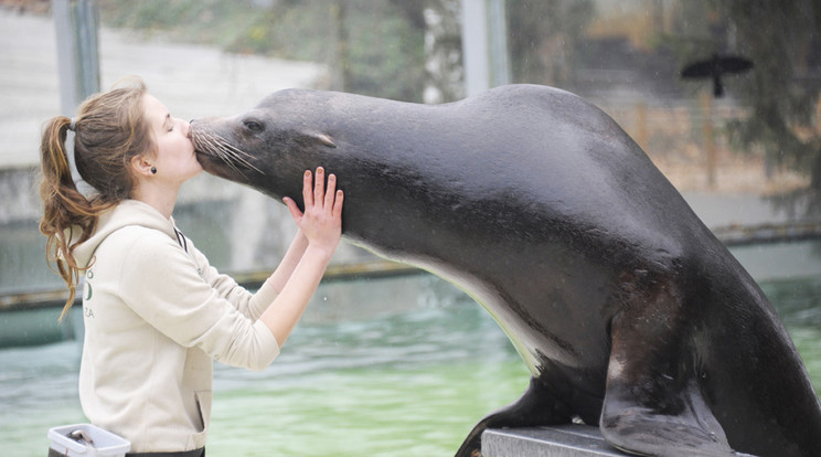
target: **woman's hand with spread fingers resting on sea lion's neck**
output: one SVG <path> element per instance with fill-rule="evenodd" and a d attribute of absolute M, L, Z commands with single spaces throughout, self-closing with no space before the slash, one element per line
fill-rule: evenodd
<path fill-rule="evenodd" d="M 299 226 L 308 245 L 323 251 L 329 257 L 333 254 L 342 236 L 342 202 L 344 195 L 337 190 L 337 177 L 328 177 L 328 189 L 326 189 L 324 169 L 317 168 L 316 179 L 310 170 L 306 170 L 302 178 L 302 199 L 305 200 L 305 213 L 299 206 L 286 196 L 285 204 Z"/>

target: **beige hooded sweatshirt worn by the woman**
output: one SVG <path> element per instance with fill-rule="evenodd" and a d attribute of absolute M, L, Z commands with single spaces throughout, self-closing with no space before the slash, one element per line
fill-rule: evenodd
<path fill-rule="evenodd" d="M 257 318 L 274 301 L 217 273 L 152 206 L 127 200 L 75 249 L 89 265 L 79 400 L 88 419 L 131 451 L 205 445 L 213 361 L 262 370 L 278 354 Z"/>

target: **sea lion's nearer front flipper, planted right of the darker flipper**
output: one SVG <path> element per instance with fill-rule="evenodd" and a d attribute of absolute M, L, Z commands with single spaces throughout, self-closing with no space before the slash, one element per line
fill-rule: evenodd
<path fill-rule="evenodd" d="M 636 455 L 736 456 L 704 401 L 695 368 L 681 362 L 687 343 L 679 323 L 653 316 L 614 319 L 601 434 Z"/>

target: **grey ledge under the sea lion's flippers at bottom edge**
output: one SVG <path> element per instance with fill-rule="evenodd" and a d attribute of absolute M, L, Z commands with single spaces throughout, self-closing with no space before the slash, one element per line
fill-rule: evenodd
<path fill-rule="evenodd" d="M 558 425 L 531 428 L 491 428 L 482 434 L 483 457 L 599 457 L 627 456 L 610 446 L 597 427 Z"/>

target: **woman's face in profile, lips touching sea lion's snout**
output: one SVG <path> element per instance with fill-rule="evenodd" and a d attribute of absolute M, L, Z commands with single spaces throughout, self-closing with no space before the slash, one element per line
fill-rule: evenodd
<path fill-rule="evenodd" d="M 157 144 L 157 157 L 151 160 L 157 168 L 154 178 L 183 182 L 202 172 L 189 138 L 189 123 L 172 117 L 166 105 L 150 94 L 143 96 L 142 109 Z"/>

